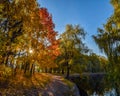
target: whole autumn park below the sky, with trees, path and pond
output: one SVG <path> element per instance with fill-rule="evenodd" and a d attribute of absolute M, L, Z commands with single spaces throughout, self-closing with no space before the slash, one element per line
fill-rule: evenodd
<path fill-rule="evenodd" d="M 109 3 L 113 14 L 91 37 L 101 56 L 79 24 L 55 31 L 37 0 L 0 0 L 0 96 L 120 96 L 120 0 Z"/>

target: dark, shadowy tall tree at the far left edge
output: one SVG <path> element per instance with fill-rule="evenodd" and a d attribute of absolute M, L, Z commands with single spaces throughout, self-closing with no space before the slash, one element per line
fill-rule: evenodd
<path fill-rule="evenodd" d="M 1 6 L 3 6 L 0 22 L 1 56 L 3 57 L 2 63 L 8 65 L 10 59 L 15 56 L 14 45 L 17 44 L 18 37 L 22 35 L 22 21 L 15 18 L 12 1 L 4 0 Z"/>

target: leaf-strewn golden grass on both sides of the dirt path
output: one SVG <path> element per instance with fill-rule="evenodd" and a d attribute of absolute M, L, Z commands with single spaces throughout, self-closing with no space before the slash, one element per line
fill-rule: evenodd
<path fill-rule="evenodd" d="M 56 75 L 49 73 L 35 73 L 30 76 L 23 74 L 19 69 L 14 76 L 10 68 L 0 67 L 0 95 L 2 96 L 41 96 L 40 94 L 47 88 L 47 85 L 54 80 L 60 80 L 69 89 L 74 86 L 62 76 L 58 79 L 54 77 Z"/>

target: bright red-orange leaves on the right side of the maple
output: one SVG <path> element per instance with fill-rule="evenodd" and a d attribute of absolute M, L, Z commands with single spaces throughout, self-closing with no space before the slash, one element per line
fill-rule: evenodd
<path fill-rule="evenodd" d="M 57 32 L 54 31 L 55 25 L 52 21 L 52 15 L 48 13 L 46 8 L 40 8 L 40 22 L 42 23 L 42 31 L 45 32 L 47 37 L 48 55 L 55 59 L 60 54 L 59 52 L 59 40 L 56 39 Z"/>

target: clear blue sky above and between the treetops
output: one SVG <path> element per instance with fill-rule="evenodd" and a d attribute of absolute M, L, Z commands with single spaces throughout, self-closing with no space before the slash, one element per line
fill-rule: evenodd
<path fill-rule="evenodd" d="M 110 0 L 38 0 L 53 16 L 55 30 L 64 32 L 66 24 L 79 24 L 87 32 L 85 43 L 98 55 L 102 55 L 92 39 L 97 28 L 102 28 L 113 13 Z"/>

